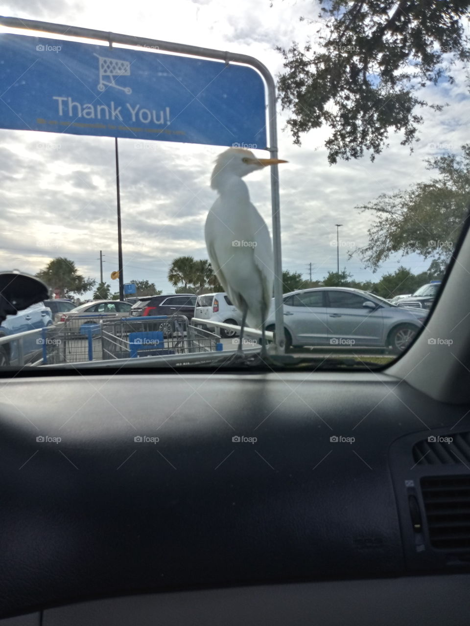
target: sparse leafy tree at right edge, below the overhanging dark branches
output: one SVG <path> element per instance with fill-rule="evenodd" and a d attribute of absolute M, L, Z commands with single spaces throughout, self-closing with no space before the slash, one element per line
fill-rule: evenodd
<path fill-rule="evenodd" d="M 418 252 L 436 260 L 437 264 L 431 264 L 434 273 L 436 269 L 437 274 L 443 273 L 468 211 L 470 144 L 462 146 L 462 156 L 448 154 L 426 163 L 427 169 L 439 172 L 439 178 L 405 191 L 383 193 L 356 207 L 372 211 L 376 218 L 368 229 L 368 244 L 352 252 L 365 267 L 375 271 L 395 252 Z"/>

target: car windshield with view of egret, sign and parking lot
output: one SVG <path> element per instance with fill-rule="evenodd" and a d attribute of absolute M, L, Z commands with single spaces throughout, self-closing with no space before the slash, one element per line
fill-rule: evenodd
<path fill-rule="evenodd" d="M 404 354 L 466 220 L 470 0 L 105 4 L 3 3 L 3 267 L 58 302 L 0 368 Z"/>

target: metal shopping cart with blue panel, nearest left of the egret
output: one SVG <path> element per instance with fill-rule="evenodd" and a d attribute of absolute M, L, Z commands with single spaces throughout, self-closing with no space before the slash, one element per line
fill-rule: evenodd
<path fill-rule="evenodd" d="M 187 317 L 121 317 L 101 322 L 103 359 L 170 356 L 221 350 L 220 337 L 191 326 Z"/>

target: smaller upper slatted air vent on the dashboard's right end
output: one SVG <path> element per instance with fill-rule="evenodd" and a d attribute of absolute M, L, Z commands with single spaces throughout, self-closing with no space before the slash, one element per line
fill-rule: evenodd
<path fill-rule="evenodd" d="M 431 435 L 414 445 L 413 458 L 417 465 L 468 464 L 470 463 L 470 433 Z"/>

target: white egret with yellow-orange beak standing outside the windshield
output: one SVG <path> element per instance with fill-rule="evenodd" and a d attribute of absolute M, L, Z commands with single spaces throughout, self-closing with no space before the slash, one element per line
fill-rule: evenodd
<path fill-rule="evenodd" d="M 229 148 L 218 156 L 211 187 L 219 193 L 206 220 L 207 254 L 214 274 L 233 304 L 242 312 L 238 352 L 243 349 L 244 326 L 261 327 L 262 355 L 266 354 L 264 321 L 273 297 L 273 248 L 268 227 L 249 200 L 250 172 L 287 163 L 256 158 L 244 148 Z"/>

